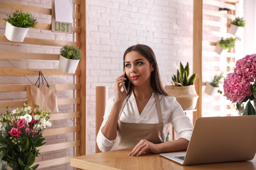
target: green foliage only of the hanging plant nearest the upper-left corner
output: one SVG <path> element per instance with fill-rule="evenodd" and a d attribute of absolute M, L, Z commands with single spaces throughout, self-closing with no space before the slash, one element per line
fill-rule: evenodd
<path fill-rule="evenodd" d="M 33 18 L 32 14 L 28 12 L 22 12 L 21 10 L 16 10 L 11 15 L 8 15 L 8 18 L 5 19 L 14 27 L 35 27 L 37 24 L 36 18 Z"/>

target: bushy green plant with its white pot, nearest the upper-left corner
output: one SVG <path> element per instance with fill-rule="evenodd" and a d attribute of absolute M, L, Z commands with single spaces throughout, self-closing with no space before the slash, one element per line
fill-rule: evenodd
<path fill-rule="evenodd" d="M 29 27 L 35 27 L 37 24 L 36 18 L 33 18 L 32 14 L 28 12 L 22 12 L 21 10 L 15 10 L 12 15 L 7 14 L 7 21 L 5 27 L 5 37 L 9 41 L 23 42 Z"/>

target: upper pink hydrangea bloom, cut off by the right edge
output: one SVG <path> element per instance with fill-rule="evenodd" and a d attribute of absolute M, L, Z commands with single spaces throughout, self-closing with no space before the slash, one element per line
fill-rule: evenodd
<path fill-rule="evenodd" d="M 247 55 L 236 61 L 234 73 L 245 76 L 249 82 L 256 78 L 256 54 Z"/>

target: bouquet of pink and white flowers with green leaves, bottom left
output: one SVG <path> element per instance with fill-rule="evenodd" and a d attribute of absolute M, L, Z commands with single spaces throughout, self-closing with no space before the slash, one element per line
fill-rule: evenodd
<path fill-rule="evenodd" d="M 40 154 L 37 147 L 45 144 L 42 133 L 47 126 L 52 125 L 49 122 L 50 112 L 40 110 L 37 105 L 32 116 L 31 107 L 26 104 L 21 110 L 17 108 L 11 112 L 7 105 L 6 113 L 1 113 L 0 117 L 1 161 L 7 162 L 12 169 L 37 169 L 39 164 L 30 166 Z"/>

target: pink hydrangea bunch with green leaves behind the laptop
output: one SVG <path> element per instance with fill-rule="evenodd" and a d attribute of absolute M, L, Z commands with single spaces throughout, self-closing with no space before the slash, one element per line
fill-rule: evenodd
<path fill-rule="evenodd" d="M 247 102 L 243 115 L 255 115 L 255 109 L 250 101 L 256 102 L 256 54 L 247 55 L 236 61 L 234 73 L 224 79 L 224 95 L 236 103 L 238 110 L 241 104 Z"/>

